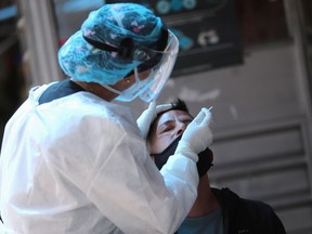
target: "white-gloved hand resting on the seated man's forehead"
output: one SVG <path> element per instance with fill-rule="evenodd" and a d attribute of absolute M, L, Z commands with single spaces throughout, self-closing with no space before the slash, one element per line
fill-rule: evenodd
<path fill-rule="evenodd" d="M 171 104 L 161 104 L 156 106 L 156 101 L 150 103 L 148 108 L 145 109 L 141 116 L 136 119 L 138 127 L 141 131 L 143 139 L 147 138 L 150 127 L 157 117 L 157 114 L 172 108 Z"/>

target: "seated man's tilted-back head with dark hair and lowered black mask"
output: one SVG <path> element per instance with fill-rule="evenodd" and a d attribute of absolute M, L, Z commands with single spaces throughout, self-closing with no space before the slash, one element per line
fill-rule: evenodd
<path fill-rule="evenodd" d="M 171 104 L 170 109 L 157 115 L 147 135 L 147 146 L 158 169 L 161 169 L 168 157 L 174 154 L 184 130 L 194 118 L 182 100 L 178 99 Z M 209 148 L 198 156 L 197 169 L 202 177 L 210 168 L 213 156 Z"/>

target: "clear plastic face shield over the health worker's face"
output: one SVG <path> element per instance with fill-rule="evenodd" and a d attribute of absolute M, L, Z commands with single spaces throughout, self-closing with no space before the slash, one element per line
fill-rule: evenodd
<path fill-rule="evenodd" d="M 140 62 L 127 77 L 134 75 L 135 82 L 123 91 L 103 84 L 106 89 L 118 94 L 116 100 L 131 102 L 140 98 L 144 102 L 156 100 L 171 75 L 179 52 L 177 37 L 168 30 L 168 43 L 164 51 L 148 48 L 134 49 L 133 60 Z"/>

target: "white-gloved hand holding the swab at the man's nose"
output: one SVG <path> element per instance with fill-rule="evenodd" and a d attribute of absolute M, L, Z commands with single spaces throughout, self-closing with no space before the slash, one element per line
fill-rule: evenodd
<path fill-rule="evenodd" d="M 212 143 L 213 135 L 210 130 L 210 123 L 211 112 L 207 108 L 202 108 L 186 127 L 174 154 L 182 154 L 196 162 L 198 154 Z"/>

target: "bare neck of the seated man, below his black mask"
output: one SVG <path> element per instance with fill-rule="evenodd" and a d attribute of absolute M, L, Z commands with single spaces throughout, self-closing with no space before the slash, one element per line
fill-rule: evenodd
<path fill-rule="evenodd" d="M 207 216 L 219 207 L 219 203 L 211 192 L 208 176 L 199 179 L 197 188 L 197 198 L 188 212 L 187 217 L 203 217 Z"/>

